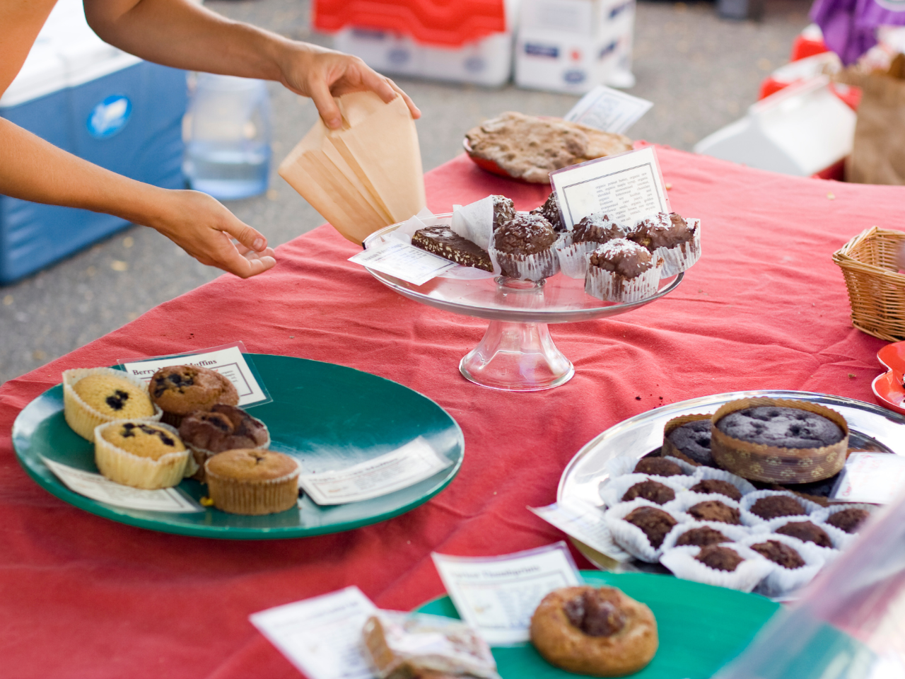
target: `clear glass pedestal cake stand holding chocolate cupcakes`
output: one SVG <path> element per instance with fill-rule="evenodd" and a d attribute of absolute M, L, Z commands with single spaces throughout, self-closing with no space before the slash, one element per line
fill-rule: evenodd
<path fill-rule="evenodd" d="M 436 215 L 452 222 L 452 213 Z M 400 225 L 386 226 L 367 237 L 365 246 Z M 548 323 L 592 320 L 632 311 L 675 290 L 683 273 L 662 279 L 653 296 L 627 304 L 601 301 L 585 292 L 585 282 L 562 273 L 546 281 L 519 281 L 508 276 L 465 281 L 434 278 L 414 285 L 368 269 L 378 281 L 410 300 L 443 311 L 490 320 L 477 347 L 459 363 L 462 376 L 481 387 L 506 391 L 540 391 L 565 384 L 575 375 L 571 361 L 557 349 Z"/>

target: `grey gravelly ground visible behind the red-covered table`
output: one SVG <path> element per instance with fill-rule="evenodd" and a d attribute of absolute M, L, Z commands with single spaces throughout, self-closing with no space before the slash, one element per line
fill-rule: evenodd
<path fill-rule="evenodd" d="M 309 3 L 299 0 L 209 0 L 215 12 L 288 37 L 324 45 L 311 33 Z M 632 94 L 654 102 L 630 136 L 691 149 L 737 120 L 757 97 L 767 72 L 787 61 L 795 35 L 808 23 L 805 0 L 767 0 L 763 21 L 733 22 L 711 3 L 640 0 L 635 19 Z M 503 110 L 562 115 L 576 97 L 397 79 L 424 116 L 418 121 L 424 169 L 462 150 L 462 133 Z M 317 112 L 271 83 L 273 156 L 279 161 Z M 226 203 L 246 223 L 285 243 L 323 219 L 275 171 L 266 196 Z M 195 262 L 156 232 L 133 226 L 22 282 L 0 287 L 0 383 L 115 330 L 157 304 L 219 272 Z M 111 357 L 112 359 L 113 357 Z"/>

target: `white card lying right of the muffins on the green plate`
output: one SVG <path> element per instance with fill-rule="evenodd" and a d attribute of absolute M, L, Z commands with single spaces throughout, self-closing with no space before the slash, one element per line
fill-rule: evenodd
<path fill-rule="evenodd" d="M 319 505 L 361 502 L 395 493 L 443 471 L 452 462 L 418 436 L 391 453 L 335 472 L 301 474 L 299 483 Z"/>

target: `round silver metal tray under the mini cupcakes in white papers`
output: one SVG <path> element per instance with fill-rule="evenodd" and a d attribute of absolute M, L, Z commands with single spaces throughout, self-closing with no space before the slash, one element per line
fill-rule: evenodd
<path fill-rule="evenodd" d="M 603 505 L 600 487 L 609 480 L 605 464 L 617 455 L 641 459 L 663 443 L 663 426 L 673 417 L 691 414 L 708 414 L 719 406 L 738 398 L 792 398 L 833 408 L 849 425 L 849 450 L 869 450 L 881 453 L 905 454 L 905 416 L 897 415 L 880 406 L 853 398 L 817 394 L 810 391 L 757 390 L 736 391 L 729 394 L 690 398 L 687 401 L 658 407 L 646 413 L 629 417 L 618 425 L 595 436 L 579 450 L 566 465 L 559 478 L 557 502 L 578 498 L 597 507 Z M 613 569 L 617 562 L 609 556 L 572 539 L 595 566 Z M 646 568 L 643 565 L 642 568 Z M 654 568 L 657 568 L 654 566 Z"/>

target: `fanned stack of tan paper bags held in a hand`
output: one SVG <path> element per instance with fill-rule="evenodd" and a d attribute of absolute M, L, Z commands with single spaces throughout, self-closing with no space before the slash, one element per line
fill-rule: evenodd
<path fill-rule="evenodd" d="M 418 133 L 402 97 L 337 99 L 342 127 L 318 119 L 280 165 L 280 176 L 353 243 L 425 206 Z"/>

